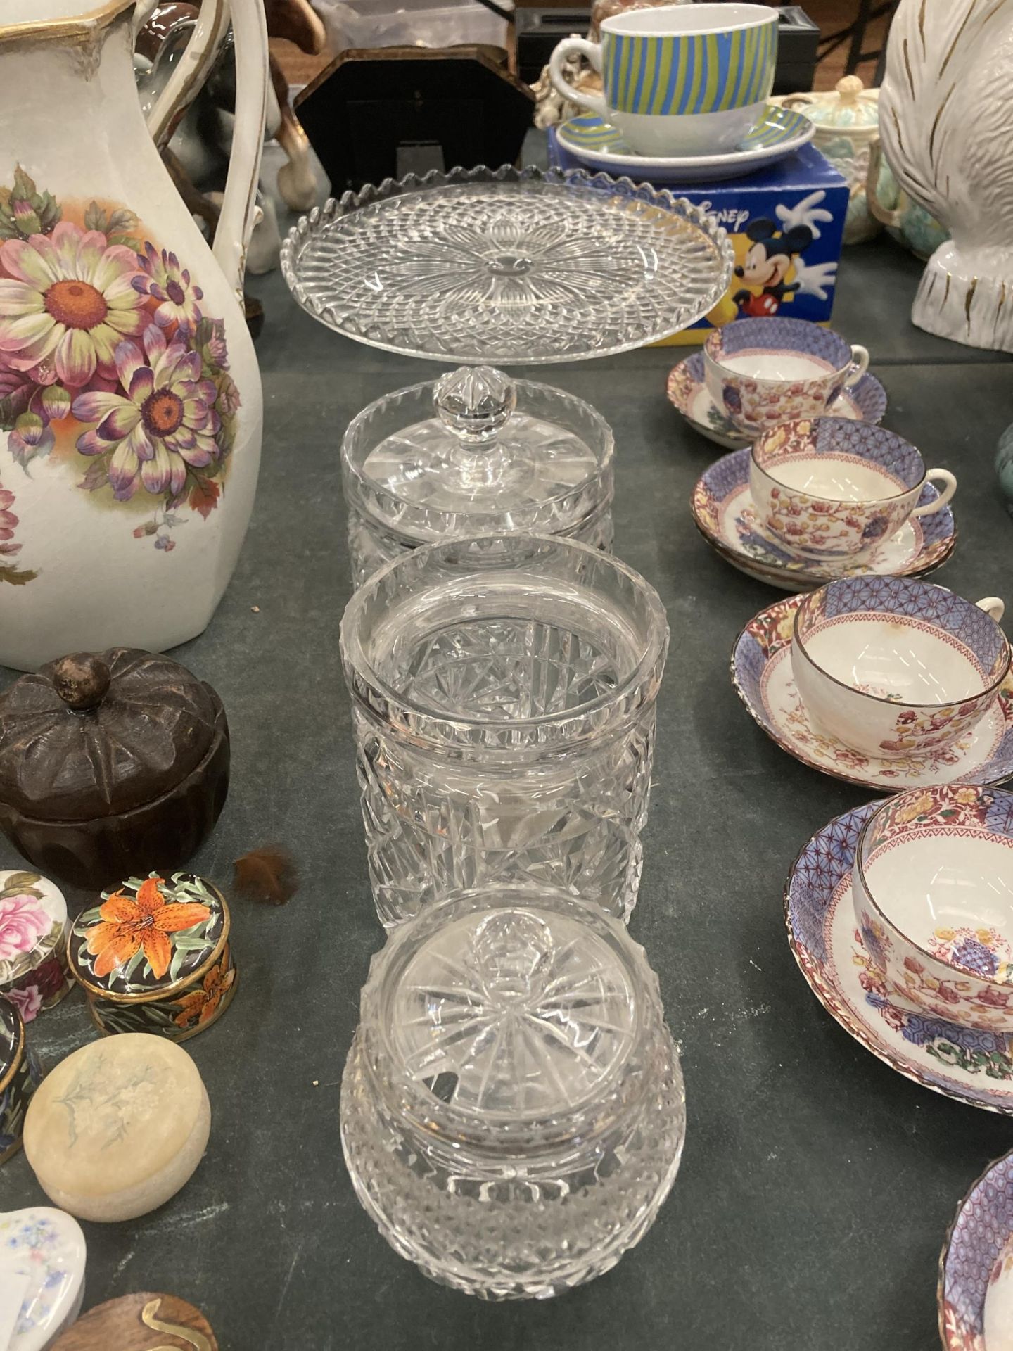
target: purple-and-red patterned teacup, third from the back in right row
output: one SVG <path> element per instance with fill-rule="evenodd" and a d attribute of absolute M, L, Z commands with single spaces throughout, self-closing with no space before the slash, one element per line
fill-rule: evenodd
<path fill-rule="evenodd" d="M 882 759 L 935 754 L 991 708 L 1010 666 L 994 596 L 906 577 L 828 582 L 796 611 L 791 674 L 814 727 Z"/>

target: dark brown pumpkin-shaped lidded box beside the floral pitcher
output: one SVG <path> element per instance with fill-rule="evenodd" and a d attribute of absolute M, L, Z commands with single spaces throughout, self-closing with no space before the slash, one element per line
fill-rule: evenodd
<path fill-rule="evenodd" d="M 185 862 L 228 793 L 222 700 L 169 657 L 77 653 L 0 696 L 0 830 L 77 886 Z"/>

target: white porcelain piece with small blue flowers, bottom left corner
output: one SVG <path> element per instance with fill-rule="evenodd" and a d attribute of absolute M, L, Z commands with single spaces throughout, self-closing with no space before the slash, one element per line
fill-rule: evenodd
<path fill-rule="evenodd" d="M 12 1331 L 0 1327 L 0 1347 L 50 1346 L 81 1309 L 84 1274 L 85 1240 L 77 1220 L 45 1205 L 0 1215 L 0 1292 L 7 1288 L 20 1296 Z"/>

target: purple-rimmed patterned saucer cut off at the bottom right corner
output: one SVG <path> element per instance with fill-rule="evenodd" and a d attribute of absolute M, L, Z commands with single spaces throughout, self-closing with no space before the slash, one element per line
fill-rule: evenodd
<path fill-rule="evenodd" d="M 939 1332 L 945 1351 L 1013 1348 L 1013 1154 L 956 1212 L 939 1259 Z"/>

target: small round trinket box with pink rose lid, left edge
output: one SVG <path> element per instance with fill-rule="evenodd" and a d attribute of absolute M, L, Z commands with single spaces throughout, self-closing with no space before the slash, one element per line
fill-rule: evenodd
<path fill-rule="evenodd" d="M 0 871 L 0 996 L 26 1023 L 59 1004 L 66 971 L 66 901 L 39 873 Z"/>

